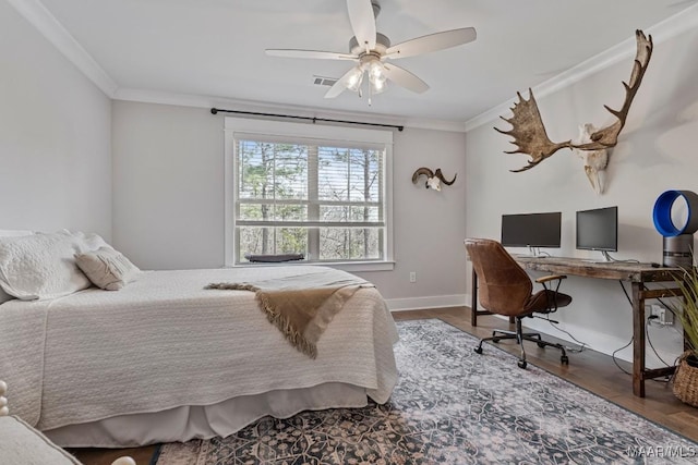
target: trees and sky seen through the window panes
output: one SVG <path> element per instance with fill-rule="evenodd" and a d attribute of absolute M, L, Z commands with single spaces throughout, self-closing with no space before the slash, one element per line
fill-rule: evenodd
<path fill-rule="evenodd" d="M 318 256 L 314 259 L 381 258 L 381 229 L 284 223 L 380 221 L 382 151 L 239 140 L 237 168 L 237 218 L 248 222 L 237 228 L 240 256 L 308 256 L 311 237 L 316 237 Z"/>

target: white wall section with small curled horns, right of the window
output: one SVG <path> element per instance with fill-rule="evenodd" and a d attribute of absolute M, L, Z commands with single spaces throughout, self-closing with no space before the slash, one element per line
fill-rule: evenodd
<path fill-rule="evenodd" d="M 406 127 L 394 134 L 393 221 L 395 269 L 358 273 L 375 283 L 390 308 L 464 305 L 466 293 L 466 136 Z M 441 168 L 452 186 L 426 189 L 420 167 Z M 410 271 L 417 282 L 409 282 Z"/>

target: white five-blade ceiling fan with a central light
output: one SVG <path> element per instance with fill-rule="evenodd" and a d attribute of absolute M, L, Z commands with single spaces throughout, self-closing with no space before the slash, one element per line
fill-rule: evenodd
<path fill-rule="evenodd" d="M 444 30 L 392 46 L 390 39 L 376 30 L 375 19 L 381 12 L 378 0 L 347 0 L 349 22 L 353 37 L 349 40 L 349 53 L 298 50 L 266 49 L 266 54 L 286 58 L 314 58 L 325 60 L 349 60 L 357 65 L 347 71 L 325 94 L 325 98 L 334 98 L 345 89 L 362 95 L 364 75 L 369 77 L 369 105 L 371 96 L 385 90 L 386 81 L 393 81 L 414 93 L 423 93 L 429 85 L 409 71 L 396 66 L 388 60 L 414 57 L 468 44 L 476 39 L 474 27 Z"/>

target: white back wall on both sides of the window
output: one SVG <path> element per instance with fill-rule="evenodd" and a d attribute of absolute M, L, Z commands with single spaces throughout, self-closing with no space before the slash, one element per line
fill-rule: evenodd
<path fill-rule="evenodd" d="M 148 269 L 222 266 L 224 115 L 115 101 L 112 120 L 116 246 Z M 395 269 L 359 274 L 401 308 L 462 304 L 465 133 L 406 127 L 394 144 Z M 420 167 L 459 178 L 428 191 Z"/>

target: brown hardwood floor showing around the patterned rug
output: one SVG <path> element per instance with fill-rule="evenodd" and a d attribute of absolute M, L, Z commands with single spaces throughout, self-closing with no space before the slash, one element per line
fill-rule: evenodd
<path fill-rule="evenodd" d="M 473 328 L 468 307 L 395 311 L 393 317 L 396 321 L 440 318 L 480 338 L 490 335 L 495 328 L 509 328 L 506 320 L 494 316 L 478 318 L 478 327 Z M 555 340 L 549 335 L 544 339 Z M 518 355 L 518 347 L 513 341 L 503 341 L 498 346 Z M 561 365 L 558 351 L 539 348 L 532 343 L 526 346 L 526 355 L 529 363 L 698 442 L 698 408 L 677 400 L 670 383 L 648 381 L 647 395 L 640 399 L 633 395 L 630 376 L 624 374 L 607 355 L 585 350 L 581 353 L 569 353 L 569 365 Z M 618 360 L 618 365 L 626 371 L 631 369 L 628 363 Z M 139 465 L 147 465 L 155 451 L 154 445 L 124 450 L 71 450 L 85 465 L 109 465 L 120 455 L 131 455 Z"/>

